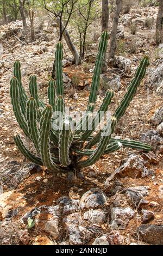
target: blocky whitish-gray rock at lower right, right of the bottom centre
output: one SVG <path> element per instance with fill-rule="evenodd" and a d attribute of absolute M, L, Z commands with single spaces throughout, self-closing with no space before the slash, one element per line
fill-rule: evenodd
<path fill-rule="evenodd" d="M 135 212 L 127 208 L 112 208 L 110 211 L 110 225 L 113 229 L 126 228 L 129 220 L 135 215 Z"/>

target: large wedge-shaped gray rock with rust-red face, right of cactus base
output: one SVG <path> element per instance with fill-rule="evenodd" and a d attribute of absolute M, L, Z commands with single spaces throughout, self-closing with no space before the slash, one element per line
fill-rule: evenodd
<path fill-rule="evenodd" d="M 130 155 L 127 157 L 127 159 L 124 159 L 122 162 L 122 165 L 115 170 L 114 173 L 111 174 L 111 176 L 106 179 L 105 186 L 109 184 L 109 182 L 115 178 L 145 178 L 149 175 L 153 174 L 153 171 L 150 169 L 147 169 L 144 165 L 144 161 L 142 157 L 137 155 Z"/>

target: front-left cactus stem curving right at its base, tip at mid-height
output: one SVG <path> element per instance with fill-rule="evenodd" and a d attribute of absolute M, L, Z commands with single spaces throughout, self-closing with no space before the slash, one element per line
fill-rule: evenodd
<path fill-rule="evenodd" d="M 52 160 L 50 146 L 49 146 L 49 136 L 51 130 L 51 117 L 52 117 L 52 107 L 48 105 L 42 112 L 40 119 L 40 153 L 43 164 L 53 171 L 58 171 L 59 167 Z"/>

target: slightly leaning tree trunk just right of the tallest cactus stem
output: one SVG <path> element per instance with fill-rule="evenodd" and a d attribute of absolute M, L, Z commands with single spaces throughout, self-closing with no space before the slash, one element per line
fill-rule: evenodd
<path fill-rule="evenodd" d="M 109 59 L 108 59 L 108 63 L 110 65 L 113 65 L 115 60 L 117 28 L 118 28 L 118 20 L 120 17 L 121 9 L 122 9 L 122 0 L 116 0 L 116 10 L 115 10 L 114 19 L 112 22 L 112 30 L 110 35 L 110 48 L 109 48 Z"/>

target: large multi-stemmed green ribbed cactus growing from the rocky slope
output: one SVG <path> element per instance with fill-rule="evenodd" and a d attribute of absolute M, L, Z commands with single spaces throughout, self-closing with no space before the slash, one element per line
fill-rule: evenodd
<path fill-rule="evenodd" d="M 58 42 L 55 53 L 56 81 L 52 79 L 48 83 L 49 105 L 39 99 L 35 75 L 31 75 L 29 78 L 30 97 L 28 99 L 21 82 L 21 64 L 18 60 L 14 63 L 14 77 L 10 81 L 12 108 L 24 135 L 33 143 L 35 149 L 30 151 L 20 135 L 16 135 L 14 140 L 18 149 L 29 161 L 58 172 L 59 170 L 75 170 L 90 166 L 102 155 L 112 153 L 122 147 L 143 151 L 152 149 L 150 145 L 141 142 L 112 138 L 118 121 L 126 112 L 137 87 L 145 76 L 149 64 L 147 56 L 141 60 L 120 106 L 106 121 L 104 127 L 95 136 L 92 135 L 100 123 L 101 117 L 108 111 L 114 96 L 114 92 L 108 90 L 101 107 L 93 116 L 107 43 L 108 32 L 104 31 L 99 42 L 86 113 L 77 123 L 65 113 L 61 42 Z M 58 122 L 58 113 L 61 113 L 62 116 L 60 122 Z M 72 129 L 72 123 L 76 124 L 76 129 Z M 85 158 L 83 159 L 83 157 Z"/>

